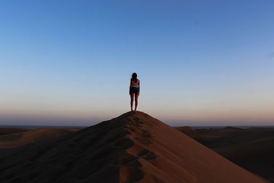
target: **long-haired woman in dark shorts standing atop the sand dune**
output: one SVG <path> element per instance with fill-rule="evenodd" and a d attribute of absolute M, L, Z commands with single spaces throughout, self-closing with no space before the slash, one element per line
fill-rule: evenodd
<path fill-rule="evenodd" d="M 133 106 L 133 100 L 134 100 L 134 95 L 135 95 L 135 111 L 138 106 L 138 97 L 140 93 L 140 80 L 137 79 L 137 74 L 133 73 L 132 74 L 132 79 L 130 80 L 130 85 L 129 85 L 129 95 L 130 95 L 130 106 Z M 133 109 L 132 109 L 133 111 Z"/>

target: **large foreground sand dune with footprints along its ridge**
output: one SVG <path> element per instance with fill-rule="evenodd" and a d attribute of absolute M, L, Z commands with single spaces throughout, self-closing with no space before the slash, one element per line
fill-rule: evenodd
<path fill-rule="evenodd" d="M 0 182 L 266 182 L 143 112 L 5 149 L 0 162 Z"/>

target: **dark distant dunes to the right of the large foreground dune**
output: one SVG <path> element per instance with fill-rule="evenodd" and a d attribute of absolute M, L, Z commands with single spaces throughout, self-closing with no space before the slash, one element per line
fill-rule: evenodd
<path fill-rule="evenodd" d="M 274 182 L 274 127 L 175 128 L 240 167 Z"/>

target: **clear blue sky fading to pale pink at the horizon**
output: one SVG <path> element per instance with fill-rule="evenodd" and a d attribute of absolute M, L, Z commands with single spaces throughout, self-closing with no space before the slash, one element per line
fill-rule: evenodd
<path fill-rule="evenodd" d="M 274 125 L 274 1 L 1 1 L 0 125 Z"/>

